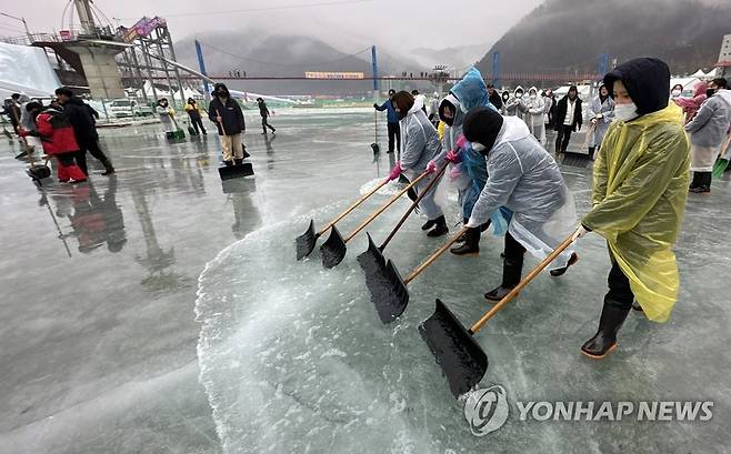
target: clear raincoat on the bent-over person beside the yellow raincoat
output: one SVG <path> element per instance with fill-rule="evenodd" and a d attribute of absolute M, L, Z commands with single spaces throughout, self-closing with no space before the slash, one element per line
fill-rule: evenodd
<path fill-rule="evenodd" d="M 578 225 L 573 196 L 553 158 L 522 120 L 505 117 L 488 152 L 488 182 L 474 204 L 469 225 L 481 225 L 500 206 L 512 210 L 510 234 L 537 259 L 544 259 Z M 572 248 L 550 265 L 567 266 Z"/>

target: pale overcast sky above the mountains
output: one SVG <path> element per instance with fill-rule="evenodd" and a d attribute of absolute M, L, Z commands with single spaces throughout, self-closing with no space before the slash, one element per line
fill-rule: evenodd
<path fill-rule="evenodd" d="M 24 17 L 31 31 L 68 28 L 67 0 L 2 1 L 0 12 Z M 397 52 L 491 44 L 541 0 L 96 0 L 112 24 L 131 26 L 142 16 L 168 19 L 173 39 L 208 31 L 266 30 L 308 34 L 350 53 L 363 44 Z M 326 4 L 323 4 L 326 3 Z M 316 4 L 309 8 L 292 6 Z M 319 4 L 319 6 L 317 6 Z M 281 9 L 279 9 L 281 8 Z M 221 13 L 217 13 L 221 12 Z M 67 14 L 68 16 L 68 14 Z M 0 17 L 0 34 L 21 34 L 22 24 Z"/>

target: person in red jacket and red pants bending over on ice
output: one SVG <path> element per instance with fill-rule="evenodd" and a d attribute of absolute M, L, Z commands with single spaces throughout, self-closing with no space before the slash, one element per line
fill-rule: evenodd
<path fill-rule="evenodd" d="M 43 152 L 58 161 L 57 174 L 62 183 L 87 181 L 87 174 L 77 165 L 79 144 L 73 127 L 60 109 L 51 105 L 43 110 L 40 102 L 29 102 L 26 109 L 36 121 L 36 131 L 20 130 L 21 135 L 37 135 L 43 144 Z"/>

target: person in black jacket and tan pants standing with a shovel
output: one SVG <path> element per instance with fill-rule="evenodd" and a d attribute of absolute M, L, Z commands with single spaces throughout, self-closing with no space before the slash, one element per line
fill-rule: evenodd
<path fill-rule="evenodd" d="M 216 123 L 218 134 L 221 138 L 223 149 L 223 163 L 237 165 L 243 162 L 243 143 L 241 134 L 247 130 L 243 121 L 243 112 L 236 102 L 229 89 L 223 83 L 213 87 L 213 99 L 208 107 L 208 118 Z"/>

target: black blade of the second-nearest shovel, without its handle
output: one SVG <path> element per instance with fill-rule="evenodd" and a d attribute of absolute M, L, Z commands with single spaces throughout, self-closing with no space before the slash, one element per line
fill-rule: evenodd
<path fill-rule="evenodd" d="M 390 260 L 385 266 L 380 268 L 370 282 L 366 281 L 371 292 L 371 301 L 375 312 L 383 324 L 391 323 L 403 314 L 409 305 L 409 291 L 403 283 L 399 270 Z"/>

